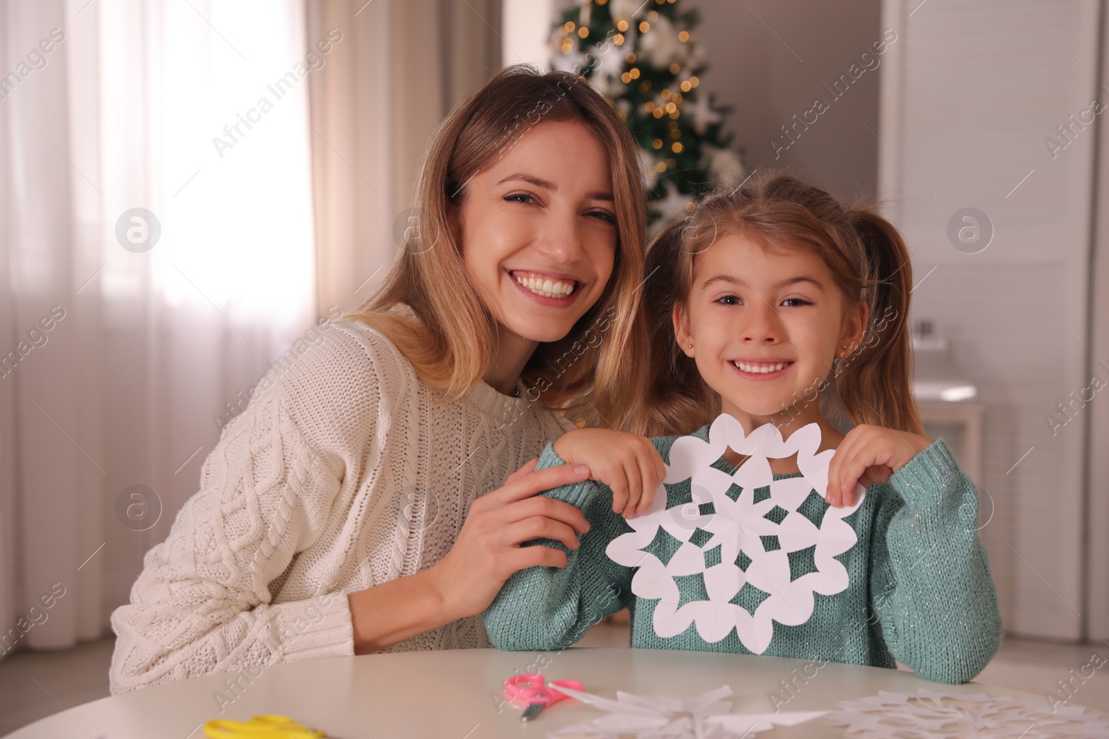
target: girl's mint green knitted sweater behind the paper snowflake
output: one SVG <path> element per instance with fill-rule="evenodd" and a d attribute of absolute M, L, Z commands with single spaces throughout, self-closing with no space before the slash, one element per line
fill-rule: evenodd
<path fill-rule="evenodd" d="M 692 435 L 708 440 L 708 432 L 705 425 Z M 652 440 L 668 464 L 675 439 Z M 548 443 L 537 469 L 557 464 L 563 461 Z M 735 470 L 723 460 L 714 466 L 729 473 Z M 791 476 L 800 473 L 774 479 Z M 668 484 L 665 490 L 667 507 L 692 501 L 689 480 Z M 674 637 L 655 635 L 652 617 L 658 601 L 637 598 L 631 593 L 634 569 L 604 553 L 609 542 L 631 531 L 612 512 L 607 485 L 587 480 L 543 494 L 580 507 L 590 530 L 580 536 L 581 546 L 574 551 L 550 540 L 528 542 L 567 552 L 568 563 L 561 568 L 522 569 L 505 583 L 484 615 L 497 647 L 560 649 L 580 639 L 600 618 L 627 607 L 632 647 L 750 654 L 735 629 L 711 644 L 700 637 L 695 624 Z M 814 491 L 798 512 L 806 506 L 822 514 L 827 504 Z M 977 493 L 947 444 L 937 440 L 888 483 L 871 485 L 858 510 L 844 520 L 858 536 L 854 547 L 836 557 L 847 568 L 847 589 L 831 596 L 816 594 L 812 617 L 804 624 L 775 623 L 763 654 L 878 667 L 895 667 L 896 659 L 922 677 L 953 684 L 977 675 L 1000 645 L 1001 618 L 986 552 L 978 541 Z M 668 562 L 679 544 L 673 537 L 657 536 L 644 551 Z M 811 564 L 807 572 L 814 569 Z M 701 576 L 675 579 L 680 605 L 708 599 Z M 754 613 L 765 597 L 747 584 L 732 603 Z"/>

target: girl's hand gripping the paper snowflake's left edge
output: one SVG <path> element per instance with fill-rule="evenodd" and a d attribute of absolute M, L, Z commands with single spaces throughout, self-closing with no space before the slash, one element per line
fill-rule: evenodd
<path fill-rule="evenodd" d="M 623 517 L 651 507 L 667 476 L 662 455 L 651 440 L 612 429 L 574 429 L 554 442 L 568 464 L 586 464 L 589 476 L 612 490 L 612 511 Z"/>

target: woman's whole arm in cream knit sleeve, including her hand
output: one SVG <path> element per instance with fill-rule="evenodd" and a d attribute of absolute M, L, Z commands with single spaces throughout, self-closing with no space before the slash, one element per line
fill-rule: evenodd
<path fill-rule="evenodd" d="M 474 503 L 455 548 L 433 569 L 349 596 L 335 593 L 334 583 L 315 583 L 315 597 L 272 604 L 271 584 L 317 542 L 333 510 L 349 509 L 360 483 L 380 486 L 354 470 L 370 443 L 387 445 L 389 430 L 376 421 L 398 412 L 397 378 L 410 372 L 404 361 L 379 335 L 336 325 L 323 346 L 267 373 L 262 394 L 224 428 L 205 460 L 201 490 L 146 554 L 131 603 L 112 614 L 113 692 L 379 649 L 479 614 L 513 567 L 561 561 L 550 550 L 506 550 L 513 538 L 576 542 L 573 527 L 587 526 L 580 511 L 528 499 L 588 471 L 530 476 L 521 474 L 526 465 Z M 329 382 L 336 374 L 344 393 Z M 337 571 L 338 547 L 325 556 L 335 557 Z"/>

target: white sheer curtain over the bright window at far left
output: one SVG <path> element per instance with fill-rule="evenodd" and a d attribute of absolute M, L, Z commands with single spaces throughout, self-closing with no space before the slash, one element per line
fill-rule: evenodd
<path fill-rule="evenodd" d="M 315 322 L 326 31 L 304 0 L 0 4 L 0 655 L 104 633 L 220 420 Z"/>

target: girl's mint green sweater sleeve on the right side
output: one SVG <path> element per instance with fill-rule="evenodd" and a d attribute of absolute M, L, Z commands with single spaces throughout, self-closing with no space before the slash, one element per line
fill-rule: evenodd
<path fill-rule="evenodd" d="M 1001 640 L 977 491 L 942 439 L 894 473 L 889 486 L 871 552 L 871 604 L 886 646 L 920 677 L 966 682 Z"/>

